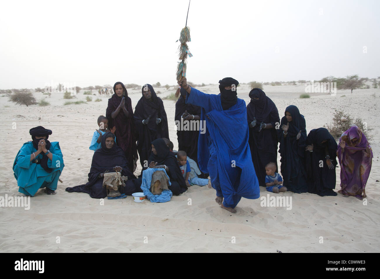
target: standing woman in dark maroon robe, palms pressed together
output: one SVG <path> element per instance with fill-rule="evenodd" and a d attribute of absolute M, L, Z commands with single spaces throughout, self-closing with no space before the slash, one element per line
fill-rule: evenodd
<path fill-rule="evenodd" d="M 120 81 L 114 84 L 114 92 L 108 99 L 106 117 L 109 127 L 116 127 L 117 145 L 124 151 L 130 171 L 134 172 L 137 167 L 138 155 L 131 98 L 128 97 L 127 89 Z"/>

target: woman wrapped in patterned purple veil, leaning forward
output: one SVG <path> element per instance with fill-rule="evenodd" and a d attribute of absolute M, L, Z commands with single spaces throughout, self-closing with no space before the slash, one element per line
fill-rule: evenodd
<path fill-rule="evenodd" d="M 345 196 L 366 197 L 367 179 L 372 167 L 372 148 L 358 126 L 352 126 L 339 139 L 336 152 L 340 164 L 340 187 Z"/>

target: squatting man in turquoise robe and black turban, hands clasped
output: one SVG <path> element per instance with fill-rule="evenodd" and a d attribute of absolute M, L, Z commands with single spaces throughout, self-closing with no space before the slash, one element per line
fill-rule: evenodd
<path fill-rule="evenodd" d="M 63 155 L 58 142 L 47 140 L 52 134 L 42 126 L 30 129 L 31 142 L 25 142 L 13 163 L 14 177 L 19 192 L 34 196 L 40 188 L 55 195 L 59 176 L 63 170 Z"/>

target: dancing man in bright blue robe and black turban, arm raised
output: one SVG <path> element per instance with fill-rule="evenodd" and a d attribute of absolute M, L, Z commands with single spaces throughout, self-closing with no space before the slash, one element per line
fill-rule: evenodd
<path fill-rule="evenodd" d="M 187 91 L 186 103 L 202 107 L 201 121 L 206 123 L 206 132 L 199 133 L 199 168 L 210 174 L 215 201 L 236 213 L 240 199 L 257 199 L 260 189 L 248 145 L 246 105 L 236 94 L 239 82 L 223 78 L 219 83 L 218 95 L 188 86 L 186 78 L 178 84 Z"/>

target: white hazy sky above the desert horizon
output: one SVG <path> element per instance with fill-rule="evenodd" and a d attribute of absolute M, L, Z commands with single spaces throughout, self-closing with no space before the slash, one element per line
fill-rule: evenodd
<path fill-rule="evenodd" d="M 176 84 L 188 0 L 2 1 L 0 89 Z M 192 0 L 187 78 L 380 76 L 380 1 Z M 363 53 L 366 47 L 367 53 Z"/>

